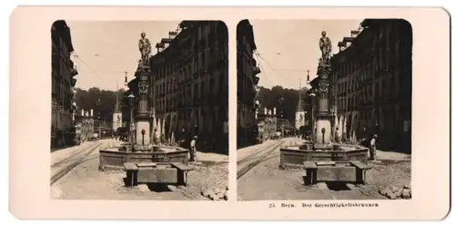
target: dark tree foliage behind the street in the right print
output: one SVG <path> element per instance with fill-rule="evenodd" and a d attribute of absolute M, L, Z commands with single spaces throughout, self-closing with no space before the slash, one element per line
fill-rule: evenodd
<path fill-rule="evenodd" d="M 302 103 L 307 87 L 302 88 Z M 290 122 L 294 122 L 296 118 L 296 110 L 298 105 L 298 90 L 283 88 L 282 86 L 273 86 L 271 89 L 259 86 L 257 95 L 259 101 L 259 113 L 264 112 L 264 108 L 273 111 L 277 108 L 277 114 L 282 115 Z"/>

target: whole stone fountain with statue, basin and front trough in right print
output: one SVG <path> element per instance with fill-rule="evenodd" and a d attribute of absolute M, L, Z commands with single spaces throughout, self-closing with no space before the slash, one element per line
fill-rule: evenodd
<path fill-rule="evenodd" d="M 360 145 L 330 142 L 329 73 L 331 43 L 325 32 L 319 39 L 322 57 L 318 66 L 318 112 L 312 141 L 280 149 L 280 168 L 303 168 L 306 182 L 353 181 L 364 182 L 368 167 L 369 149 Z M 351 175 L 352 176 L 349 176 Z"/>

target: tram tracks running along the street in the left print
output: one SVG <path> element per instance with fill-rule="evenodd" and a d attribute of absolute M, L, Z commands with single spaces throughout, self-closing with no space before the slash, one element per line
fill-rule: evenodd
<path fill-rule="evenodd" d="M 95 152 L 96 149 L 98 149 L 104 143 L 105 142 L 96 142 L 94 145 L 90 145 L 88 148 L 84 148 L 82 150 L 77 150 L 76 153 L 52 164 L 51 171 L 52 169 L 56 169 L 60 166 L 64 168 L 51 175 L 50 185 L 53 185 L 56 181 L 59 181 L 62 177 L 64 177 L 69 171 L 72 171 L 76 168 L 76 166 L 83 163 L 87 156 L 89 156 L 92 152 Z M 69 164 L 65 165 L 65 163 Z"/>

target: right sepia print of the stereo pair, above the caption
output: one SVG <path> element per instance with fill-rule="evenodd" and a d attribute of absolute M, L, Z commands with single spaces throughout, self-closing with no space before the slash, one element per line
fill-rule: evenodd
<path fill-rule="evenodd" d="M 243 20 L 238 200 L 411 199 L 412 27 Z"/>

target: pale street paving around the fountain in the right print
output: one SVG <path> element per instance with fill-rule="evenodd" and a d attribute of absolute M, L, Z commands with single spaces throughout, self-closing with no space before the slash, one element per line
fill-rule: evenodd
<path fill-rule="evenodd" d="M 255 166 L 238 178 L 238 201 L 386 199 L 379 194 L 381 187 L 410 184 L 410 155 L 378 151 L 379 160 L 370 162 L 373 169 L 367 173 L 367 185 L 319 182 L 304 186 L 304 171 L 279 169 L 279 147 L 273 146 L 278 142 L 281 142 L 278 146 L 284 146 L 298 140 L 269 141 L 238 150 L 242 157 L 239 158 L 238 171 L 248 166 L 242 159 L 249 157 L 249 161 L 257 161 L 251 162 Z"/>

